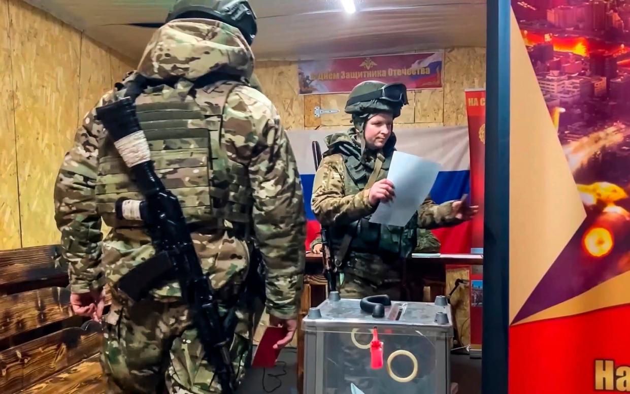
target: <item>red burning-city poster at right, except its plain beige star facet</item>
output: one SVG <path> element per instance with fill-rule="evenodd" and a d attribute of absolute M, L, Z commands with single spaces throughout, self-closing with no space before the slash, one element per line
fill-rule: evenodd
<path fill-rule="evenodd" d="M 630 1 L 512 9 L 587 217 L 511 322 L 510 393 L 629 391 Z"/>

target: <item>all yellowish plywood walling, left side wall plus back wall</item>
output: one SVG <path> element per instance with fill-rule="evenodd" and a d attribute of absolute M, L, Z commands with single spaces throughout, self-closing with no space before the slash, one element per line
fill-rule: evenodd
<path fill-rule="evenodd" d="M 135 66 L 21 0 L 0 0 L 0 250 L 59 242 L 53 190 L 76 127 Z M 297 94 L 297 63 L 256 64 L 286 129 L 339 129 L 346 95 Z M 410 91 L 396 127 L 465 125 L 465 88 L 485 85 L 485 49 L 445 51 L 444 88 Z M 314 107 L 339 113 L 314 117 Z"/>

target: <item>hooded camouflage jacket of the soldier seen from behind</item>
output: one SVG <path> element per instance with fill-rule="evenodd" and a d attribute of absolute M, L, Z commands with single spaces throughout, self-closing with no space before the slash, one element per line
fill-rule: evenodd
<path fill-rule="evenodd" d="M 176 20 L 157 30 L 137 71 L 123 84 L 136 73 L 186 84 L 210 71 L 240 76 L 246 82 L 251 78 L 253 62 L 251 48 L 238 29 L 219 21 Z M 123 91 L 106 93 L 96 107 L 117 100 Z M 195 97 L 202 113 L 215 105 L 205 100 L 203 88 L 193 88 L 189 94 Z M 151 100 L 151 95 L 143 93 L 136 102 Z M 239 84 L 227 96 L 224 108 L 221 149 L 227 159 L 247 170 L 244 182 L 249 184 L 253 201 L 252 241 L 260 248 L 267 269 L 266 306 L 272 315 L 292 318 L 297 315 L 301 297 L 306 240 L 302 187 L 294 154 L 276 108 L 260 91 Z M 103 167 L 99 149 L 106 130 L 95 119 L 95 113 L 91 110 L 77 130 L 55 185 L 55 219 L 62 233 L 62 254 L 70 263 L 73 293 L 99 290 L 105 283 L 115 285 L 123 274 L 155 252 L 142 227 L 107 223 L 114 228 L 102 240 L 101 216 L 107 216 L 99 211 L 95 189 L 102 186 L 98 184 Z M 192 233 L 192 238 L 212 286 L 228 297 L 238 293 L 248 265 L 248 240 L 234 238 L 230 231 L 200 230 Z M 169 282 L 151 294 L 168 300 L 180 296 L 180 290 L 176 282 Z"/>

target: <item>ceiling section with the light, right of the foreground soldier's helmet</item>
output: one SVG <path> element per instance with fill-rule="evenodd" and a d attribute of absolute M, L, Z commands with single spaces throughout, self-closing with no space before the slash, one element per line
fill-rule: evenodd
<path fill-rule="evenodd" d="M 392 53 L 410 49 L 485 46 L 485 6 L 426 6 L 347 15 L 296 15 L 261 21 L 255 50 L 266 57 L 304 59 Z M 282 22 L 282 23 L 281 23 Z M 445 29 L 444 26 L 449 26 Z"/>

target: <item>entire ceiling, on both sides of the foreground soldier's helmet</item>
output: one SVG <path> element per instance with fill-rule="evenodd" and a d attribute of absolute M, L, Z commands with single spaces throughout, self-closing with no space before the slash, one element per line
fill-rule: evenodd
<path fill-rule="evenodd" d="M 138 59 L 173 0 L 27 0 L 119 52 Z M 485 46 L 485 0 L 250 0 L 259 18 L 257 59 L 318 59 Z M 438 3 L 438 4 L 436 4 Z"/>

